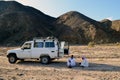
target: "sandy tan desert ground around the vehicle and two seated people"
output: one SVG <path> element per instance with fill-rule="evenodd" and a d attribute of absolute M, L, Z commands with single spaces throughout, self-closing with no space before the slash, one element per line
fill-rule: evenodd
<path fill-rule="evenodd" d="M 119 46 L 71 46 L 70 53 L 77 66 L 66 67 L 68 56 L 43 65 L 37 60 L 10 64 L 6 51 L 14 47 L 0 47 L 0 80 L 120 80 Z M 81 56 L 86 56 L 90 67 L 81 68 Z"/>

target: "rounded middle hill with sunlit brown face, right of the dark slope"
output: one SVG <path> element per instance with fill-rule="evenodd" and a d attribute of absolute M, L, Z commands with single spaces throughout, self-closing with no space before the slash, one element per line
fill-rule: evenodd
<path fill-rule="evenodd" d="M 101 23 L 86 17 L 76 11 L 71 11 L 57 18 L 58 25 L 64 25 L 71 29 L 71 34 L 62 35 L 66 39 L 73 40 L 76 43 L 88 43 L 94 41 L 96 43 L 107 42 L 109 37 L 103 30 Z M 58 26 L 57 25 L 57 26 Z M 67 29 L 66 29 L 67 31 Z M 69 36 L 69 37 L 68 37 Z M 74 38 L 74 39 L 73 39 Z M 75 41 L 76 40 L 76 41 Z"/>

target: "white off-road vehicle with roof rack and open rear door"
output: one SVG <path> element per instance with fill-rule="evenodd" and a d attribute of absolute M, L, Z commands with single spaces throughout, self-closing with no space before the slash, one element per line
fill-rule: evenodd
<path fill-rule="evenodd" d="M 7 57 L 10 63 L 16 63 L 17 60 L 40 59 L 41 63 L 48 64 L 51 60 L 64 56 L 65 42 L 59 42 L 56 38 L 35 38 L 27 41 L 21 48 L 8 50 Z"/>

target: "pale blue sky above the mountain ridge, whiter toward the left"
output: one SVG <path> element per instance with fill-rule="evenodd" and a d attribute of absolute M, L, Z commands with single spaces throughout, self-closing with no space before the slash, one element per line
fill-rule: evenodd
<path fill-rule="evenodd" d="M 92 19 L 120 19 L 120 0 L 16 0 L 58 17 L 68 11 L 78 11 Z"/>

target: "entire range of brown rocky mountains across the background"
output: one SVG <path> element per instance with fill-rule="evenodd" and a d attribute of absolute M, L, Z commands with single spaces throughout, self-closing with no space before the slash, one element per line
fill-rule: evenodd
<path fill-rule="evenodd" d="M 45 36 L 71 44 L 119 42 L 119 22 L 95 21 L 76 11 L 53 18 L 15 1 L 0 1 L 0 45 L 19 45 Z"/>

